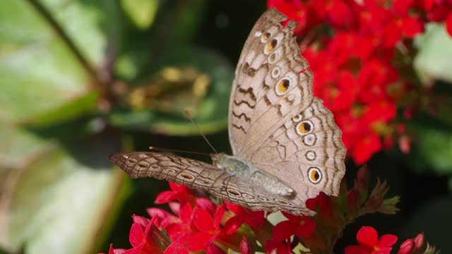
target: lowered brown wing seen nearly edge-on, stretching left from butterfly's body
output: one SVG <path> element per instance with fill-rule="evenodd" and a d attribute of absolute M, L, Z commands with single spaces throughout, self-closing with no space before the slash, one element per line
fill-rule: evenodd
<path fill-rule="evenodd" d="M 314 214 L 311 210 L 297 207 L 290 198 L 269 193 L 262 186 L 252 186 L 243 179 L 195 159 L 157 152 L 119 152 L 108 159 L 133 179 L 153 177 L 184 184 L 251 210 Z"/>

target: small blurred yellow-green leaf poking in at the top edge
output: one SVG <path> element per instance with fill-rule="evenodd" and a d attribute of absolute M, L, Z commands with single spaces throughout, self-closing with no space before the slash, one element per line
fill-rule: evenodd
<path fill-rule="evenodd" d="M 157 0 L 121 0 L 122 8 L 138 28 L 149 28 L 157 13 Z"/>

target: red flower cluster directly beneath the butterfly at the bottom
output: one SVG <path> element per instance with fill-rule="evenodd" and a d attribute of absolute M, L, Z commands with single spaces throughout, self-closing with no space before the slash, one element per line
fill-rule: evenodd
<path fill-rule="evenodd" d="M 133 215 L 129 234 L 132 248 L 125 250 L 110 246 L 109 254 L 188 254 L 200 250 L 212 254 L 225 253 L 216 243 L 242 254 L 254 253 L 254 247 L 246 238 L 263 243 L 268 253 L 274 250 L 280 253 L 282 248 L 291 253 L 290 237 L 308 237 L 316 226 L 309 217 L 285 214 L 289 220 L 273 227 L 262 211 L 252 212 L 230 202 L 215 205 L 207 198 L 196 197 L 185 186 L 169 183 L 169 187 L 171 191 L 160 193 L 155 202 L 168 203 L 173 213 L 153 207 L 148 209 L 152 219 Z M 242 224 L 248 227 L 242 230 Z M 251 230 L 254 231 L 252 234 Z"/>

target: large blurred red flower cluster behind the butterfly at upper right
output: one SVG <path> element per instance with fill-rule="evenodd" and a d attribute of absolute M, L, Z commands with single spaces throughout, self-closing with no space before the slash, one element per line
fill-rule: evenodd
<path fill-rule="evenodd" d="M 333 111 L 355 162 L 392 145 L 396 102 L 408 86 L 393 64 L 429 21 L 446 20 L 452 1 L 268 0 L 299 26 L 302 54 L 314 72 L 314 94 Z M 333 36 L 331 36 L 333 35 Z M 410 84 L 412 85 L 412 84 Z M 384 138 L 384 143 L 381 137 Z"/>

